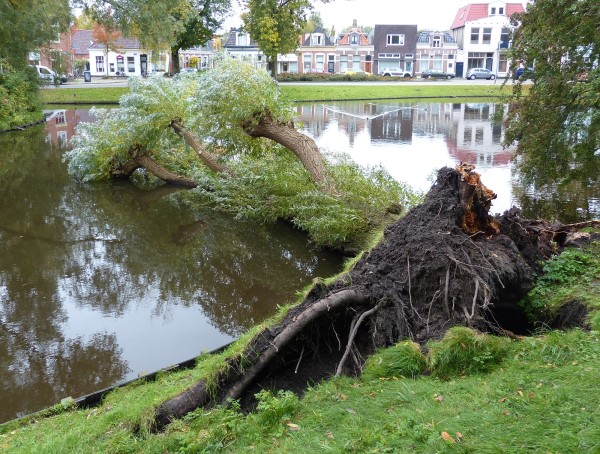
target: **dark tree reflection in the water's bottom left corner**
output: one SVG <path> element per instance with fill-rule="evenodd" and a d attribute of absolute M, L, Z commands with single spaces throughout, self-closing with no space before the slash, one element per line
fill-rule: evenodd
<path fill-rule="evenodd" d="M 0 361 L 8 365 L 0 369 L 0 423 L 105 388 L 128 372 L 114 334 L 36 345 L 35 339 L 10 334 L 0 335 Z"/>

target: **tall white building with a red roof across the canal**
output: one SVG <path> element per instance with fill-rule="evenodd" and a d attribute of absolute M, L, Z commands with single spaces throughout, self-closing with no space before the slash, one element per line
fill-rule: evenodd
<path fill-rule="evenodd" d="M 512 29 L 510 17 L 523 11 L 521 3 L 500 1 L 460 8 L 451 27 L 460 49 L 456 75 L 464 76 L 469 68 L 487 68 L 499 77 L 505 76 Z"/>

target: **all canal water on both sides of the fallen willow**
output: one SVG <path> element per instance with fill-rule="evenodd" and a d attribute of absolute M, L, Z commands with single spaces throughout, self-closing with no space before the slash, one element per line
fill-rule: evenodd
<path fill-rule="evenodd" d="M 491 121 L 498 106 L 393 101 L 300 104 L 321 149 L 381 165 L 426 191 L 435 170 L 477 165 L 530 217 L 600 217 L 598 190 L 534 193 Z M 226 344 L 341 257 L 287 225 L 188 206 L 173 188 L 84 185 L 63 152 L 87 109 L 0 135 L 0 423 Z"/>

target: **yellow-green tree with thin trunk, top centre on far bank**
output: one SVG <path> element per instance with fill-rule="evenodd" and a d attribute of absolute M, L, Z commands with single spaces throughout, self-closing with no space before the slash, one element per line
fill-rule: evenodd
<path fill-rule="evenodd" d="M 294 52 L 304 31 L 310 0 L 246 0 L 244 28 L 267 56 L 271 76 L 277 76 L 277 55 Z"/>

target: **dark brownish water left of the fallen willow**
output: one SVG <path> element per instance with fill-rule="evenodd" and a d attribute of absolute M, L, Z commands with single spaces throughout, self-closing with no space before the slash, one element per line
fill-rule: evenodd
<path fill-rule="evenodd" d="M 0 422 L 226 344 L 341 258 L 180 191 L 84 186 L 68 111 L 0 136 Z"/>

